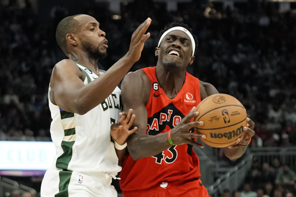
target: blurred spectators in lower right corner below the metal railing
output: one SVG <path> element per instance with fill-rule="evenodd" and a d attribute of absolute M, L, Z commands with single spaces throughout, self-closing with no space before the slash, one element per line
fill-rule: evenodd
<path fill-rule="evenodd" d="M 225 189 L 221 197 L 293 197 L 296 194 L 296 166 L 274 159 L 272 165 L 254 161 L 245 183 L 237 191 Z"/>

